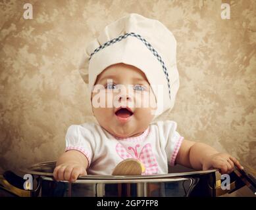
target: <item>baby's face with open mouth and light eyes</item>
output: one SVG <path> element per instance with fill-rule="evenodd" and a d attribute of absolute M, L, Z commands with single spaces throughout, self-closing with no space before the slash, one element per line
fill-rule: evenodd
<path fill-rule="evenodd" d="M 122 63 L 109 66 L 98 75 L 91 102 L 101 127 L 121 138 L 141 135 L 156 110 L 155 95 L 145 74 Z"/>

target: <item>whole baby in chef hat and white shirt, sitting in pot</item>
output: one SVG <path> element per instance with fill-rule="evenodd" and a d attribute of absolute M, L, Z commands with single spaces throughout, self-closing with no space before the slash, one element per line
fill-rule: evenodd
<path fill-rule="evenodd" d="M 106 26 L 88 45 L 80 74 L 86 83 L 89 79 L 91 111 L 99 124 L 68 128 L 56 180 L 111 175 L 128 158 L 140 161 L 143 175 L 168 173 L 168 165 L 176 163 L 220 173 L 243 169 L 229 154 L 184 139 L 176 122 L 157 120 L 170 112 L 179 87 L 176 40 L 161 22 L 128 14 Z"/>

